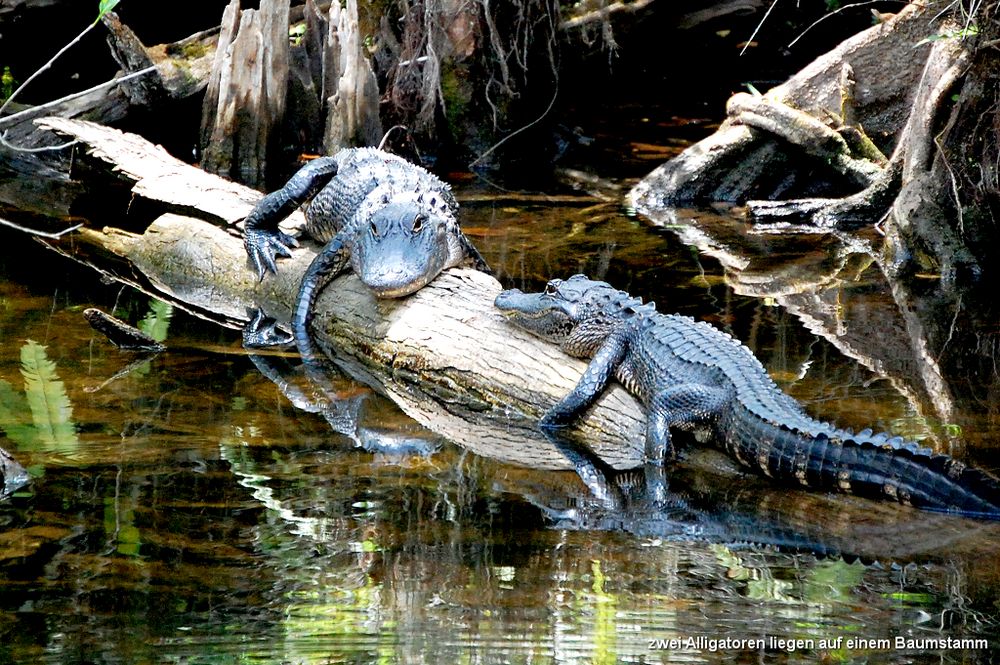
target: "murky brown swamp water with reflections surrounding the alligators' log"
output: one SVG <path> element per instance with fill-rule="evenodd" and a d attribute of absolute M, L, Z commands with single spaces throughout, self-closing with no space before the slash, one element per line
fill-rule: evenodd
<path fill-rule="evenodd" d="M 817 416 L 1000 468 L 988 303 L 894 291 L 836 239 L 747 236 L 713 213 L 653 228 L 583 194 L 458 193 L 507 285 L 607 279 L 733 332 Z M 0 447 L 33 482 L 0 503 L 2 662 L 986 663 L 1000 648 L 995 524 L 776 489 L 698 452 L 669 482 L 701 531 L 602 515 L 573 473 L 464 451 L 364 386 L 338 385 L 364 435 L 338 434 L 238 332 L 4 243 Z M 82 309 L 116 303 L 170 350 L 136 362 L 95 335 Z"/>

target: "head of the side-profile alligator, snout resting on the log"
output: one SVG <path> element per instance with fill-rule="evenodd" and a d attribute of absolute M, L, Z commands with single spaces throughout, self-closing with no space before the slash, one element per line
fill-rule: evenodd
<path fill-rule="evenodd" d="M 503 291 L 494 305 L 517 327 L 558 344 L 571 356 L 589 358 L 642 301 L 606 282 L 573 275 L 551 280 L 541 293 Z"/>

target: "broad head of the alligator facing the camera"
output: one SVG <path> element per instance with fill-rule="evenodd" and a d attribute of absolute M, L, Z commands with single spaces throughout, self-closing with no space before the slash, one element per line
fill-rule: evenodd
<path fill-rule="evenodd" d="M 455 220 L 434 207 L 391 203 L 359 230 L 351 267 L 379 298 L 409 295 L 454 265 L 453 226 Z"/>

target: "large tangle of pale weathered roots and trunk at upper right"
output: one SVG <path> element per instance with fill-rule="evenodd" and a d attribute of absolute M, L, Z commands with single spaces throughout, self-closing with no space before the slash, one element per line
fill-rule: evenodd
<path fill-rule="evenodd" d="M 656 216 L 730 201 L 768 229 L 875 226 L 887 272 L 982 281 L 996 244 L 1000 24 L 963 11 L 911 2 L 763 96 L 734 97 L 719 130 L 644 178 L 633 204 Z"/>

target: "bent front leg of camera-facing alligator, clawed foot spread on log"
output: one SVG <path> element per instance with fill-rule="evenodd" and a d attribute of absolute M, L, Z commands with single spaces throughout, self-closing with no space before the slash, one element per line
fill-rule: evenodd
<path fill-rule="evenodd" d="M 278 272 L 276 256 L 291 256 L 295 238 L 278 229 L 278 222 L 326 187 L 337 175 L 333 157 L 314 159 L 293 175 L 285 186 L 271 192 L 254 206 L 243 223 L 243 245 L 250 262 L 263 281 L 268 271 Z"/>

